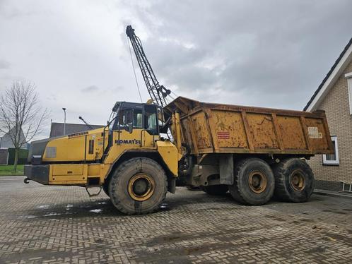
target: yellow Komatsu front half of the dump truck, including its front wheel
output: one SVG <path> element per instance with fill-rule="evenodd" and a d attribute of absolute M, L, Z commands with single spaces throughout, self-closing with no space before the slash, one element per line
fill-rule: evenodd
<path fill-rule="evenodd" d="M 107 126 L 30 145 L 25 176 L 47 185 L 100 186 L 126 214 L 153 212 L 175 192 L 177 148 L 155 104 L 117 102 Z"/>

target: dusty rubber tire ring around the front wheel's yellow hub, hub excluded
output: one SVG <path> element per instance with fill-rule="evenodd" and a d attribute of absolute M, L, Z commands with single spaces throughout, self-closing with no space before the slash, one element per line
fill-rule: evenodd
<path fill-rule="evenodd" d="M 129 193 L 129 181 L 137 174 L 144 174 L 153 179 L 153 193 L 147 200 L 135 200 Z M 158 210 L 167 191 L 168 179 L 163 168 L 158 162 L 146 157 L 135 157 L 122 162 L 109 184 L 112 204 L 127 215 L 141 215 Z"/>

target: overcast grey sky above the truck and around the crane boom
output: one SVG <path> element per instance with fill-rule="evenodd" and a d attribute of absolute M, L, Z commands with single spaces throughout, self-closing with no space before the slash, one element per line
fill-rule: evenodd
<path fill-rule="evenodd" d="M 129 24 L 175 94 L 286 109 L 303 109 L 352 37 L 348 0 L 0 0 L 0 92 L 30 81 L 53 121 L 66 107 L 69 123 L 105 124 L 116 101 L 140 102 Z"/>

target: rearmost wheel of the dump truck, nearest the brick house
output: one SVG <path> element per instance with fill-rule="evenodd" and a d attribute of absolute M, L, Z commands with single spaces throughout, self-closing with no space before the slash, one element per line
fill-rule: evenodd
<path fill-rule="evenodd" d="M 310 198 L 313 192 L 314 174 L 307 162 L 291 158 L 274 164 L 272 168 L 277 198 L 293 203 L 303 203 Z M 297 177 L 298 180 L 295 180 Z"/>

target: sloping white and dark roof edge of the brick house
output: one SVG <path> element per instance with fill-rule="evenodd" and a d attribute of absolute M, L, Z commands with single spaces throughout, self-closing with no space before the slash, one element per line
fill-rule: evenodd
<path fill-rule="evenodd" d="M 339 78 L 344 68 L 346 68 L 348 62 L 352 59 L 352 38 L 348 41 L 346 47 L 341 52 L 339 58 L 336 59 L 332 68 L 327 73 L 327 76 L 322 80 L 322 83 L 318 86 L 317 90 L 314 92 L 309 102 L 303 109 L 304 111 L 314 111 L 320 102 L 327 95 L 327 92 L 332 88 L 337 78 Z"/>

